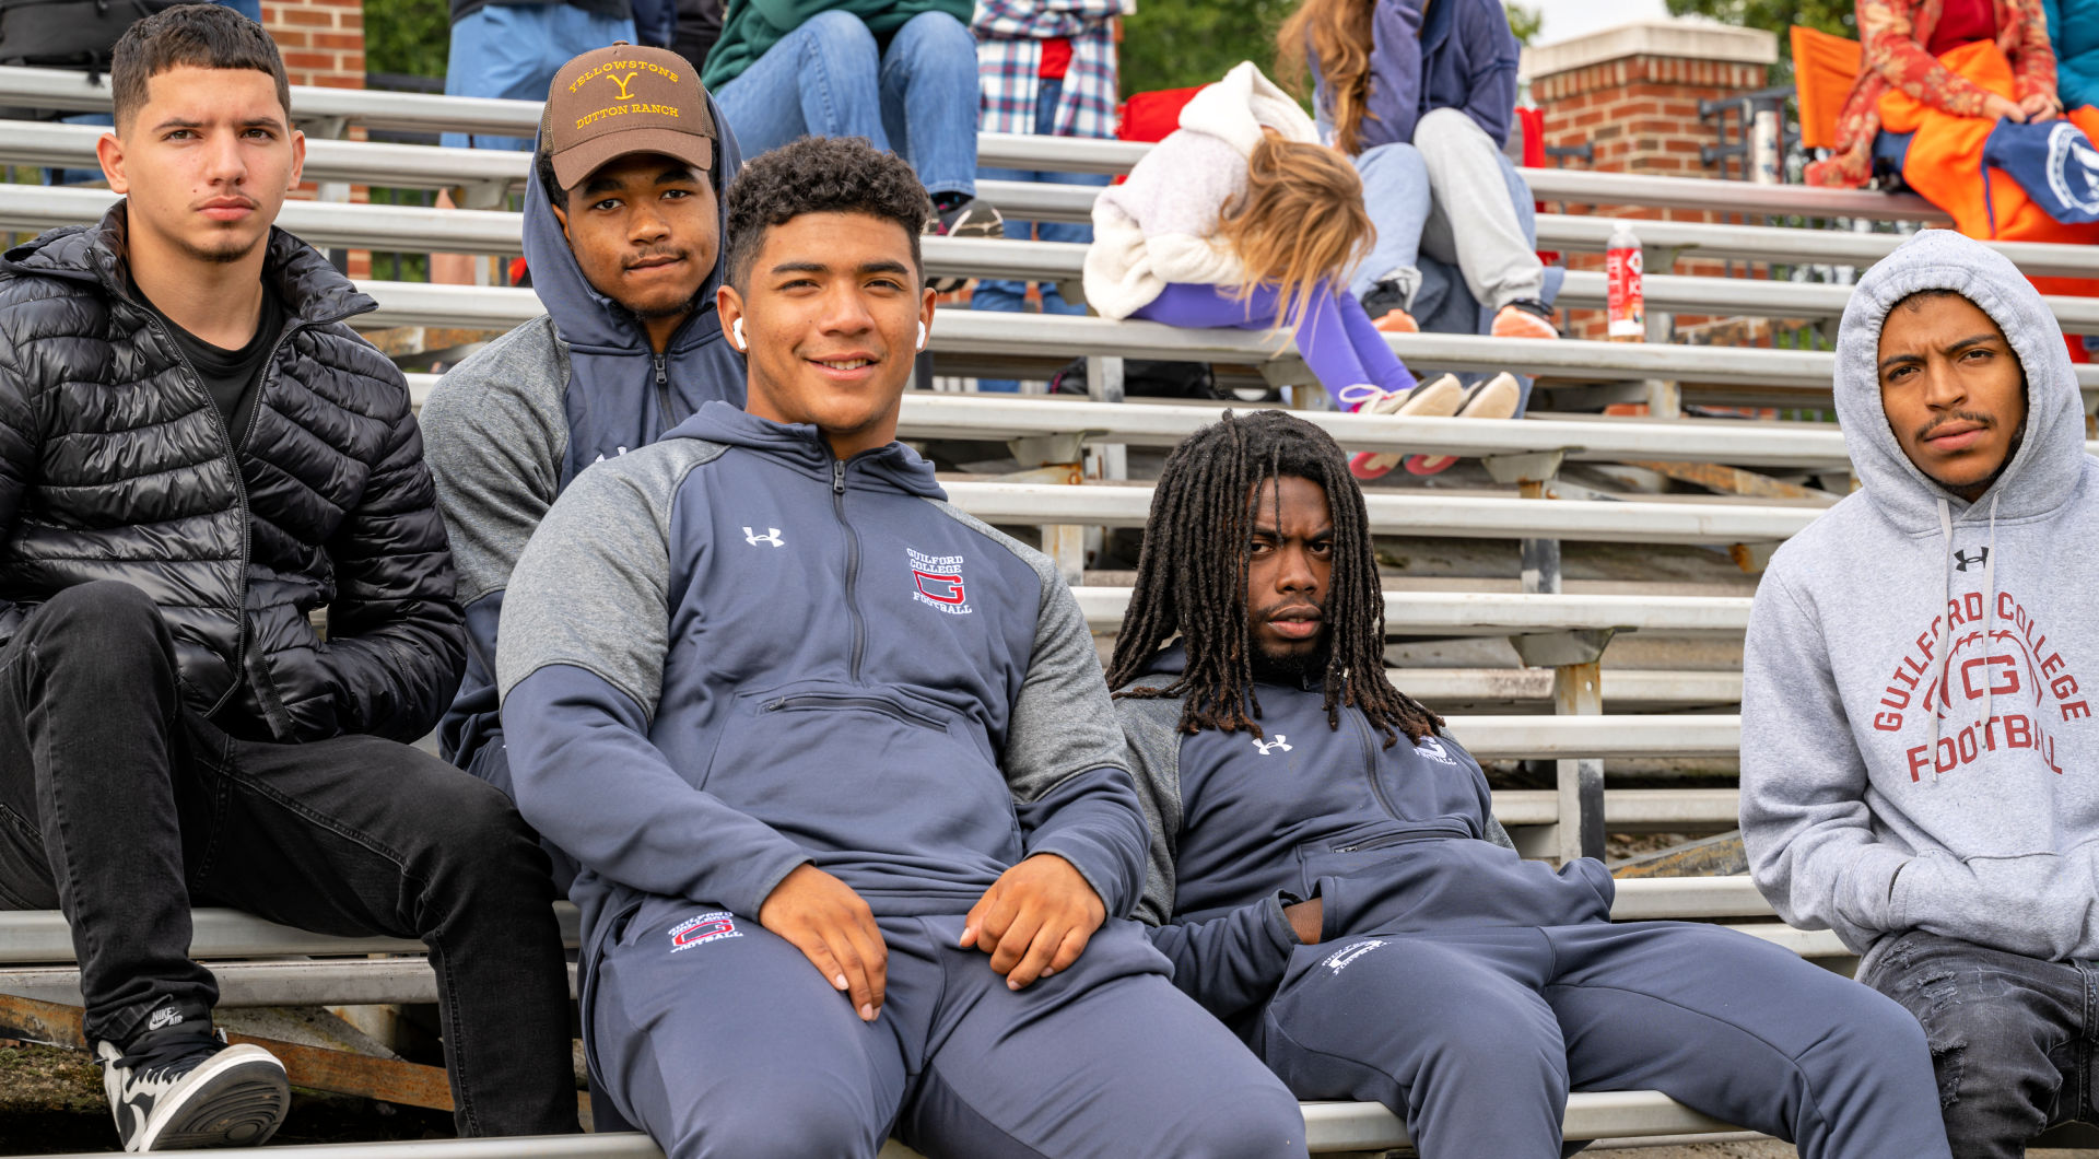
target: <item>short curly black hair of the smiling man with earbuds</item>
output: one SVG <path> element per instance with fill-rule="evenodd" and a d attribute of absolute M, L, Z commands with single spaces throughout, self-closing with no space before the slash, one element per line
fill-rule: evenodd
<path fill-rule="evenodd" d="M 932 197 L 911 166 L 865 136 L 802 136 L 743 166 L 728 187 L 728 283 L 749 286 L 766 229 L 804 214 L 867 214 L 894 220 L 911 237 L 911 269 L 926 277 L 919 231 Z"/>

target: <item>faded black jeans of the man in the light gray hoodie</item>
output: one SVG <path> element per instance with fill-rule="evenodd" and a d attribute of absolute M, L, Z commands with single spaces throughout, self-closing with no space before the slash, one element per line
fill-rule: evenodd
<path fill-rule="evenodd" d="M 2013 1159 L 2055 1123 L 2099 1121 L 2099 962 L 1910 930 L 1860 981 L 1923 1023 L 1954 1159 Z"/>

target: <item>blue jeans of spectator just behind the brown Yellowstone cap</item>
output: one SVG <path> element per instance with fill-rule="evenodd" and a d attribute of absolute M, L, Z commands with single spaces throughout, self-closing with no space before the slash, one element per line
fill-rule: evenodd
<path fill-rule="evenodd" d="M 630 17 L 613 19 L 575 4 L 489 4 L 451 25 L 445 59 L 445 97 L 500 97 L 546 101 L 554 73 L 573 57 L 634 40 Z M 529 136 L 447 132 L 451 149 L 533 147 Z"/>

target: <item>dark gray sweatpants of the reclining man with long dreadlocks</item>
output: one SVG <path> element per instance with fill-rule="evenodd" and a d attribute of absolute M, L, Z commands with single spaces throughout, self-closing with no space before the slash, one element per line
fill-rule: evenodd
<path fill-rule="evenodd" d="M 1366 934 L 1297 951 L 1253 1031 L 1299 1098 L 1366 1098 L 1423 1159 L 1562 1153 L 1568 1090 L 1660 1090 L 1803 1159 L 1946 1157 L 1887 997 L 1688 922 Z"/>

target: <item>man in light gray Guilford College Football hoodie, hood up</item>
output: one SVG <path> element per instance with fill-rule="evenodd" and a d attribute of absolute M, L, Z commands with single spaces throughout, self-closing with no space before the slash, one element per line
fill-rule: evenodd
<path fill-rule="evenodd" d="M 1751 871 L 1923 1023 L 1954 1155 L 2023 1155 L 2099 1071 L 2099 462 L 2032 283 L 1942 229 L 1853 292 L 1837 414 L 1864 487 L 1748 624 Z"/>

